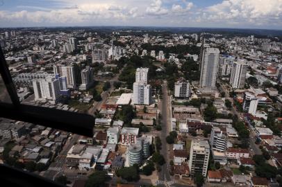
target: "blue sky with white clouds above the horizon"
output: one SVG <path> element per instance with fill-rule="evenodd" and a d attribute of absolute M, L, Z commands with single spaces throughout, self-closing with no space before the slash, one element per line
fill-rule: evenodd
<path fill-rule="evenodd" d="M 33 26 L 282 30 L 282 0 L 0 0 L 0 27 Z"/>

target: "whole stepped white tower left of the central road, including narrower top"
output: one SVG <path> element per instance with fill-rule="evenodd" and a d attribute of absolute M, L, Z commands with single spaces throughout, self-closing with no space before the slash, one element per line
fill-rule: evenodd
<path fill-rule="evenodd" d="M 135 105 L 151 104 L 151 85 L 147 84 L 148 71 L 148 68 L 136 69 L 133 83 L 133 104 Z"/>

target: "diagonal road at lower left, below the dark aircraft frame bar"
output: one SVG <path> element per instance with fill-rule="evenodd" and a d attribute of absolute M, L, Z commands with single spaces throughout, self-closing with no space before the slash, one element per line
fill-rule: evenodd
<path fill-rule="evenodd" d="M 51 163 L 49 166 L 49 169 L 44 172 L 44 177 L 47 177 L 49 179 L 53 179 L 54 177 L 57 177 L 61 173 L 63 174 L 63 165 L 65 164 L 67 152 L 72 148 L 72 145 L 78 141 L 78 139 L 81 137 L 81 135 L 74 134 L 72 135 L 72 139 L 70 141 L 67 141 L 65 143 L 63 150 L 60 152 L 58 157 Z"/>

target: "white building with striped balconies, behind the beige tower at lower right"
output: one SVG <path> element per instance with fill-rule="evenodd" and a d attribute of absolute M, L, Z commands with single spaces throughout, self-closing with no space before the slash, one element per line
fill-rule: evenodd
<path fill-rule="evenodd" d="M 213 150 L 224 152 L 226 150 L 227 141 L 226 136 L 217 127 L 213 127 L 210 132 L 210 146 Z"/>

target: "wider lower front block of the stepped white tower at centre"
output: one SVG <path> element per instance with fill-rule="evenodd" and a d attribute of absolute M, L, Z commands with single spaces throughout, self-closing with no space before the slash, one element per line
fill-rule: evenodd
<path fill-rule="evenodd" d="M 151 85 L 134 82 L 133 83 L 133 104 L 150 105 L 151 104 Z"/>

